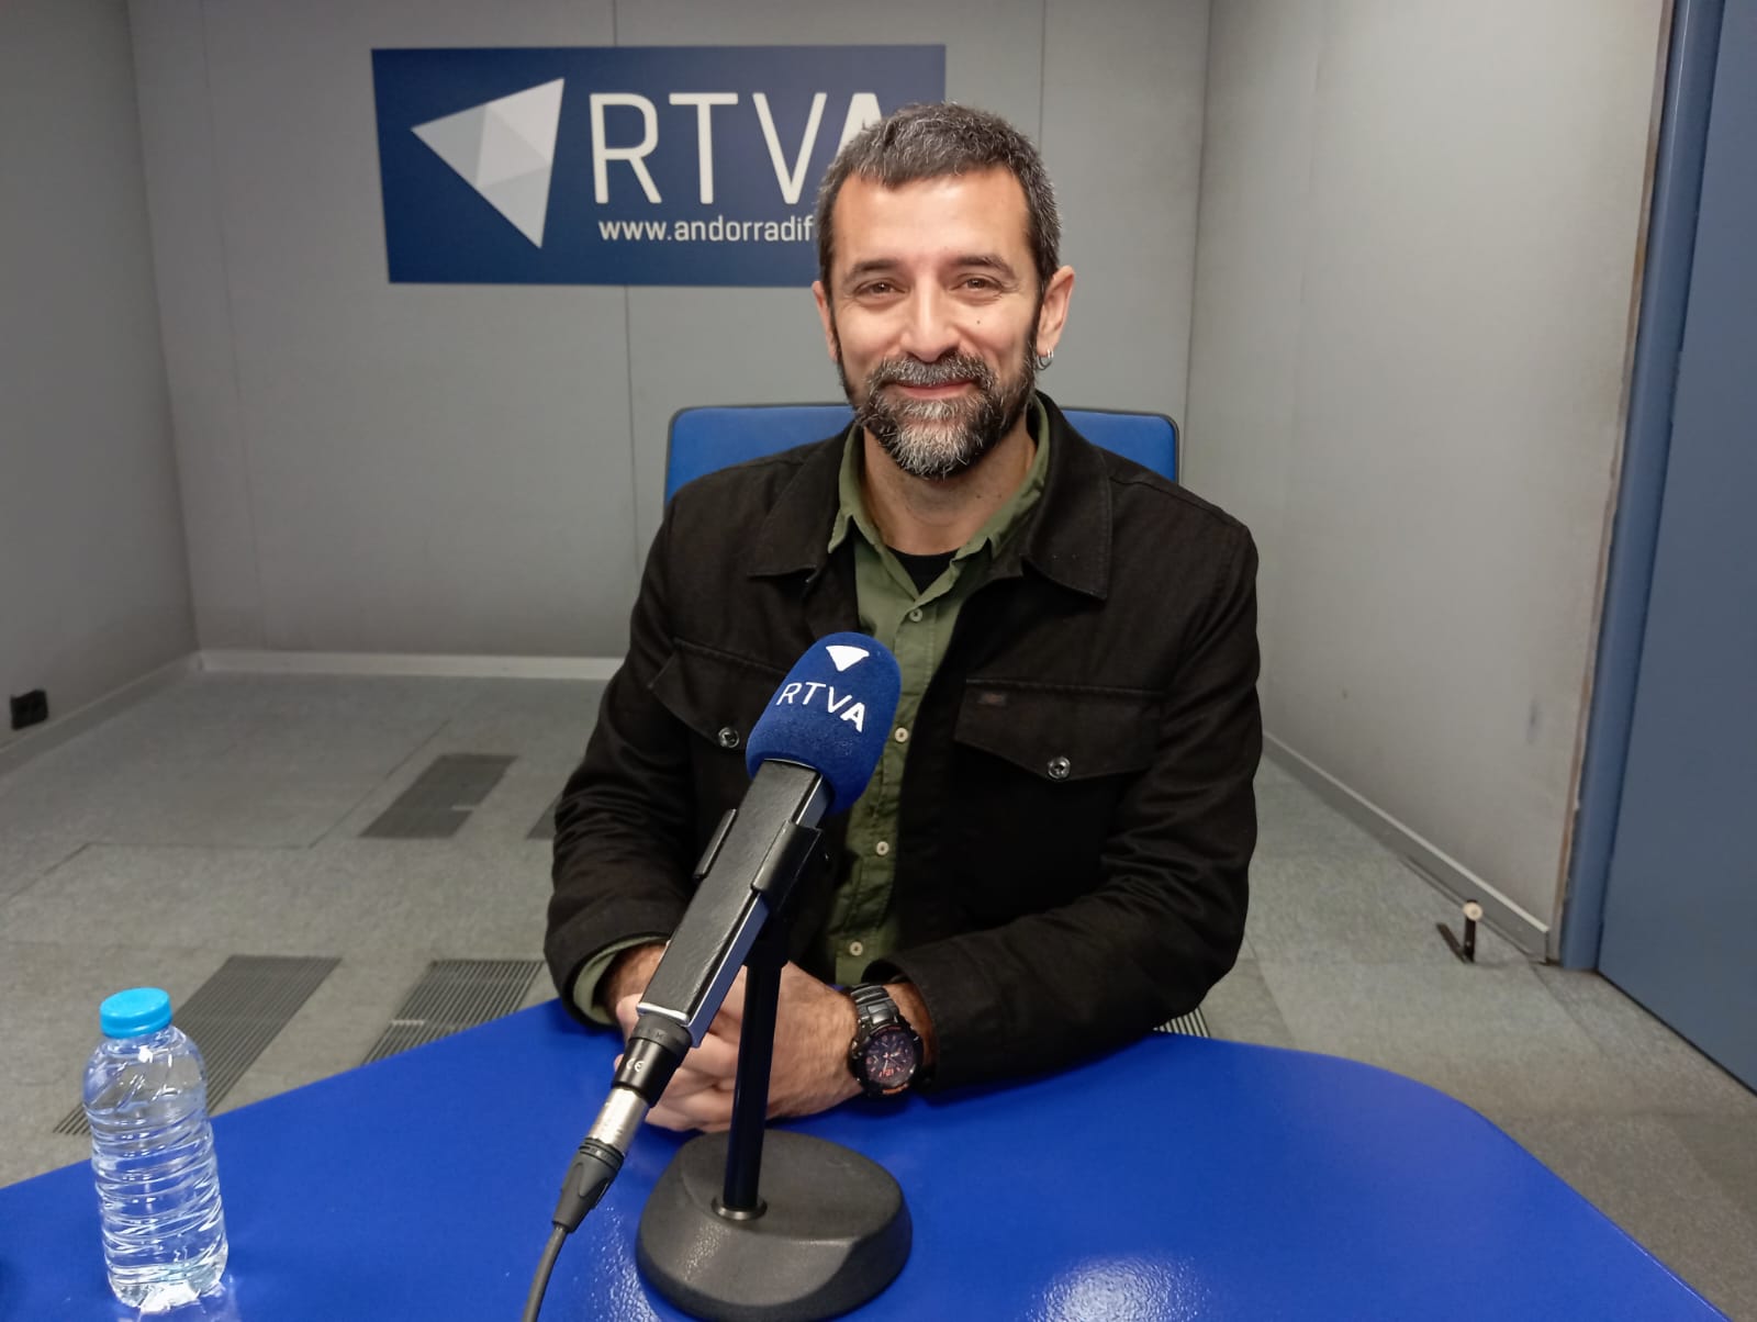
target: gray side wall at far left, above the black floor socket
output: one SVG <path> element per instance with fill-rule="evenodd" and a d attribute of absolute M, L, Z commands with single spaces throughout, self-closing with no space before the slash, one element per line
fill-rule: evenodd
<path fill-rule="evenodd" d="M 0 686 L 65 715 L 193 647 L 121 7 L 0 7 Z"/>

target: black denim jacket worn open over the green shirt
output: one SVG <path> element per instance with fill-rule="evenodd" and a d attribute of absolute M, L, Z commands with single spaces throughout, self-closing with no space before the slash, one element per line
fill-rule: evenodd
<path fill-rule="evenodd" d="M 1262 751 L 1251 534 L 1042 399 L 1044 498 L 922 698 L 898 821 L 901 946 L 868 969 L 919 990 L 942 1088 L 1139 1037 L 1198 1006 L 1244 935 Z M 569 1007 L 592 955 L 676 926 L 748 784 L 743 735 L 815 638 L 859 628 L 849 547 L 826 550 L 840 459 L 840 436 L 799 447 L 692 482 L 666 510 L 629 656 L 555 809 L 545 953 Z M 796 904 L 808 969 L 840 819 L 824 844 Z"/>

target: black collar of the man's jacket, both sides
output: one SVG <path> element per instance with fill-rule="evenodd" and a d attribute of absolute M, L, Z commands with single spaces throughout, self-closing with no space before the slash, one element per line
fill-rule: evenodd
<path fill-rule="evenodd" d="M 1049 476 L 1044 496 L 996 556 L 991 577 L 1016 578 L 1030 564 L 1051 582 L 1102 601 L 1110 589 L 1109 471 L 1103 455 L 1068 425 L 1056 401 L 1042 392 L 1037 397 L 1049 415 Z M 748 577 L 815 578 L 828 564 L 845 436 L 836 432 L 812 447 L 780 489 L 757 531 Z"/>

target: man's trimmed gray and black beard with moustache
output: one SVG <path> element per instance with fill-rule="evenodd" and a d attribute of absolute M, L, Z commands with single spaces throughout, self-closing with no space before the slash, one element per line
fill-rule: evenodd
<path fill-rule="evenodd" d="M 842 367 L 842 390 L 854 404 L 854 420 L 871 432 L 893 462 L 910 476 L 944 480 L 968 471 L 1010 432 L 1037 387 L 1030 353 L 1012 381 L 1003 381 L 982 359 L 949 353 L 936 362 L 886 359 L 866 373 L 857 397 Z M 889 385 L 949 385 L 970 381 L 975 390 L 954 399 L 910 399 Z"/>

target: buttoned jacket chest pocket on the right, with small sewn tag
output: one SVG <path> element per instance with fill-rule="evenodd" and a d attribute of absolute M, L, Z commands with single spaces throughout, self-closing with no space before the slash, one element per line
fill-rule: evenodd
<path fill-rule="evenodd" d="M 1093 886 L 1117 802 L 1153 765 L 1158 724 L 1156 693 L 965 686 L 949 795 L 979 916 L 1005 921 Z"/>

